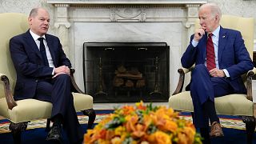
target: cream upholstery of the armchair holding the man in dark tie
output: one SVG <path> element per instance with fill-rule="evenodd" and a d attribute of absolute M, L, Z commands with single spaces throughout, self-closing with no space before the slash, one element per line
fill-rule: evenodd
<path fill-rule="evenodd" d="M 16 72 L 10 58 L 9 41 L 14 35 L 22 34 L 29 29 L 28 16 L 17 13 L 0 14 L 0 76 L 3 74 L 9 78 L 10 90 L 14 90 Z M 29 91 L 28 91 L 29 93 Z M 76 111 L 93 108 L 93 98 L 90 95 L 72 93 Z M 52 104 L 36 99 L 24 99 L 16 101 L 17 106 L 10 110 L 6 103 L 6 95 L 3 82 L 0 82 L 0 115 L 11 122 L 30 122 L 38 118 L 50 118 Z"/>

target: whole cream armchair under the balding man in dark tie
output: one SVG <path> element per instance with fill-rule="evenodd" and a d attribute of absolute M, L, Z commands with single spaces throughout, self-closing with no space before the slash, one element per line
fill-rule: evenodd
<path fill-rule="evenodd" d="M 29 29 L 27 16 L 17 13 L 0 14 L 0 115 L 10 120 L 9 129 L 13 134 L 14 142 L 21 142 L 21 134 L 26 130 L 27 123 L 38 119 L 48 118 L 46 130 L 50 129 L 52 104 L 36 99 L 14 101 L 13 91 L 16 81 L 16 71 L 10 58 L 9 41 L 14 35 L 22 34 Z M 95 120 L 93 98 L 86 95 L 74 82 L 74 70 L 70 70 L 71 82 L 74 86 L 74 107 L 89 116 L 87 128 L 92 128 Z M 29 93 L 29 91 L 28 91 Z"/>

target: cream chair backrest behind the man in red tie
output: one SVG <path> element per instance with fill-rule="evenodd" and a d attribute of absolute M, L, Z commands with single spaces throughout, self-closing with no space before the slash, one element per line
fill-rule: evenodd
<path fill-rule="evenodd" d="M 253 59 L 254 54 L 254 18 L 243 18 L 233 15 L 222 15 L 220 22 L 223 28 L 239 30 L 245 41 L 246 48 Z M 195 29 L 199 27 L 199 19 L 195 22 Z"/>

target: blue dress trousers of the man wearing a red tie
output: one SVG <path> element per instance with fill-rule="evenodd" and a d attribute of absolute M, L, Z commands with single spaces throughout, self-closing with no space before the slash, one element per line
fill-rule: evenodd
<path fill-rule="evenodd" d="M 194 105 L 194 126 L 197 128 L 209 127 L 209 117 L 203 109 L 203 103 L 207 100 L 214 102 L 214 97 L 231 94 L 232 91 L 233 88 L 228 79 L 210 77 L 205 65 L 196 65 L 192 71 L 190 82 L 190 94 Z"/>

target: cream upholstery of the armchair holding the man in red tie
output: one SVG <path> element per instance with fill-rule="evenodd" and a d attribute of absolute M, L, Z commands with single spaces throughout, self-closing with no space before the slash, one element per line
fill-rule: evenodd
<path fill-rule="evenodd" d="M 242 18 L 231 15 L 223 15 L 220 23 L 222 27 L 239 30 L 241 32 L 242 38 L 245 41 L 246 48 L 250 53 L 250 58 L 253 58 L 254 18 Z M 195 29 L 198 27 L 199 20 L 196 20 Z M 182 70 L 184 70 L 185 74 L 190 71 L 184 68 L 182 68 Z M 186 77 L 189 76 L 189 73 L 186 74 Z M 186 80 L 186 82 L 189 81 Z M 246 84 L 246 78 L 244 78 L 244 82 Z M 176 91 L 177 90 L 175 90 L 175 92 Z M 230 94 L 223 97 L 214 98 L 217 114 L 253 116 L 254 103 L 246 97 L 246 94 Z M 181 93 L 178 92 L 178 94 L 171 95 L 169 98 L 169 106 L 174 110 L 193 112 L 193 104 L 190 91 L 183 90 Z"/>

